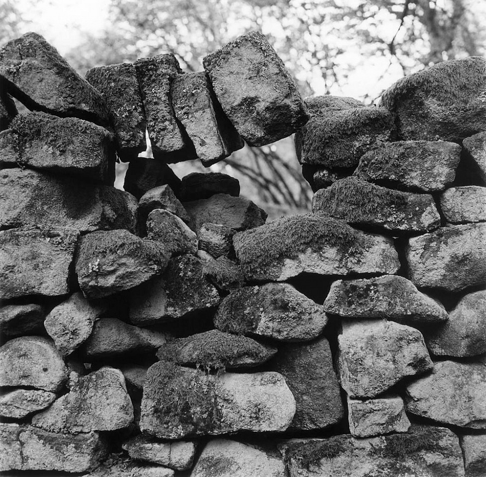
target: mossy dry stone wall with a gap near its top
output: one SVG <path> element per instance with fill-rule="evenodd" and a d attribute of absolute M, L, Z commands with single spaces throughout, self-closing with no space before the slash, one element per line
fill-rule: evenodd
<path fill-rule="evenodd" d="M 256 32 L 204 69 L 0 50 L 0 473 L 486 476 L 486 60 L 379 106 Z M 167 165 L 293 133 L 312 214 Z"/>

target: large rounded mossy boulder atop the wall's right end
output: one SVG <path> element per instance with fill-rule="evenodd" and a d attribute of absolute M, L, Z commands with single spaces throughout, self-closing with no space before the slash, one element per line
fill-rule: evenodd
<path fill-rule="evenodd" d="M 486 130 L 486 59 L 438 63 L 399 79 L 381 97 L 398 139 L 458 142 Z"/>

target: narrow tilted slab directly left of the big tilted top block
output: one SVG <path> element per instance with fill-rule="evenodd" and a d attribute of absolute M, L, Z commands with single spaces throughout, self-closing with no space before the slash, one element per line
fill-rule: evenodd
<path fill-rule="evenodd" d="M 205 167 L 242 149 L 243 139 L 226 117 L 206 73 L 177 75 L 170 85 L 175 117 Z"/>

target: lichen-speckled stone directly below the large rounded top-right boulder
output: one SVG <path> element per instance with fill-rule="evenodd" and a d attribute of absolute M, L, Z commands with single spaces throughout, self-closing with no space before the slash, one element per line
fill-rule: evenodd
<path fill-rule="evenodd" d="M 354 176 L 384 186 L 431 192 L 456 176 L 461 146 L 443 141 L 381 143 L 361 157 Z"/>

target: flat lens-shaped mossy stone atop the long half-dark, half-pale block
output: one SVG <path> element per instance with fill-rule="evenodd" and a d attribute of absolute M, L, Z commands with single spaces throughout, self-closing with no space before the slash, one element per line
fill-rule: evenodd
<path fill-rule="evenodd" d="M 217 329 L 169 341 L 157 357 L 181 366 L 202 369 L 235 369 L 258 366 L 277 350 L 245 336 L 222 333 Z"/>

